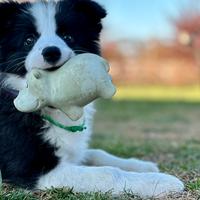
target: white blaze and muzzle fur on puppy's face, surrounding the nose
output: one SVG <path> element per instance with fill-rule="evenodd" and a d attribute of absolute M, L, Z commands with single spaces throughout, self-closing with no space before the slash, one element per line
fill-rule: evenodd
<path fill-rule="evenodd" d="M 45 61 L 42 54 L 47 47 L 55 46 L 61 51 L 61 58 L 54 67 L 61 66 L 74 55 L 73 50 L 56 33 L 56 5 L 55 1 L 49 0 L 48 3 L 40 1 L 32 4 L 30 8 L 35 19 L 36 30 L 40 36 L 25 60 L 25 67 L 28 72 L 34 68 L 47 69 L 52 67 Z"/>

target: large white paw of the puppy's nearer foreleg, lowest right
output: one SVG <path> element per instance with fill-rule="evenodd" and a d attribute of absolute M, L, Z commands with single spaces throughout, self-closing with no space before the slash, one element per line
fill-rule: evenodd
<path fill-rule="evenodd" d="M 183 182 L 175 176 L 163 173 L 141 173 L 137 176 L 137 186 L 134 185 L 136 177 L 129 176 L 128 180 L 129 184 L 130 181 L 134 183 L 133 192 L 142 198 L 161 198 L 169 194 L 181 193 L 184 190 Z"/>

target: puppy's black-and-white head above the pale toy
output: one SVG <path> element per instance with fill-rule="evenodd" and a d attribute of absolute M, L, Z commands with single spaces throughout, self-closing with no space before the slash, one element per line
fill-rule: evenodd
<path fill-rule="evenodd" d="M 55 69 L 75 54 L 99 54 L 105 10 L 91 0 L 0 3 L 0 70 Z"/>

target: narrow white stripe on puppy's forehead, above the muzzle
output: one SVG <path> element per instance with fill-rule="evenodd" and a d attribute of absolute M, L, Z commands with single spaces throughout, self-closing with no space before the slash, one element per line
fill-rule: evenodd
<path fill-rule="evenodd" d="M 31 7 L 31 13 L 35 18 L 36 28 L 39 34 L 51 35 L 56 33 L 56 3 L 38 2 Z"/>

